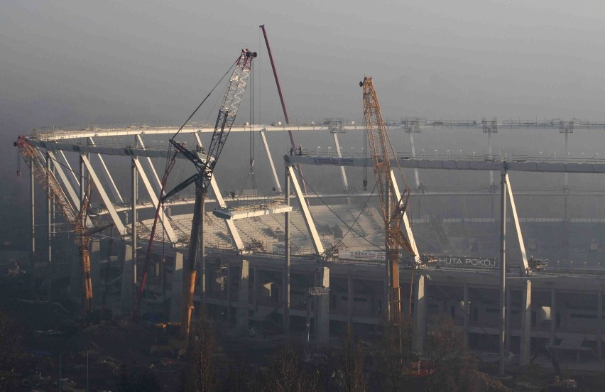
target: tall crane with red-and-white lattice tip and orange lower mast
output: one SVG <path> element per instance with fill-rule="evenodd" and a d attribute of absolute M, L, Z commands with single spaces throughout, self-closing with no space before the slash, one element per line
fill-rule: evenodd
<path fill-rule="evenodd" d="M 170 144 L 175 149 L 175 154 L 180 153 L 182 156 L 190 160 L 195 165 L 196 172 L 190 178 L 177 185 L 173 190 L 163 195 L 168 173 L 174 165 L 175 156 L 168 165 L 168 168 L 164 174 L 162 180 L 162 190 L 160 191 L 160 198 L 158 202 L 158 208 L 156 209 L 156 217 L 154 219 L 153 227 L 151 230 L 151 237 L 149 239 L 148 251 L 143 266 L 143 278 L 141 279 L 141 286 L 138 290 L 136 298 L 136 305 L 134 309 L 134 316 L 138 316 L 140 310 L 141 298 L 143 297 L 143 290 L 146 281 L 146 273 L 148 271 L 148 265 L 151 258 L 151 245 L 153 244 L 153 236 L 155 235 L 155 229 L 160 214 L 160 206 L 168 198 L 176 195 L 181 190 L 185 189 L 191 184 L 195 184 L 195 207 L 193 210 L 193 222 L 190 233 L 189 252 L 187 254 L 187 262 L 185 265 L 185 277 L 183 278 L 182 286 L 182 312 L 180 322 L 180 339 L 185 342 L 187 346 L 187 337 L 189 336 L 191 315 L 193 310 L 193 291 L 195 289 L 195 280 L 197 276 L 197 253 L 198 246 L 200 245 L 200 234 L 204 230 L 204 215 L 205 215 L 205 197 L 208 192 L 208 187 L 212 180 L 212 174 L 214 168 L 217 165 L 219 156 L 222 149 L 227 141 L 227 136 L 231 131 L 231 126 L 235 121 L 237 111 L 241 99 L 244 97 L 246 85 L 251 73 L 252 59 L 256 58 L 256 52 L 251 52 L 248 49 L 241 50 L 239 58 L 236 60 L 234 70 L 229 78 L 229 84 L 224 94 L 224 99 L 219 109 L 219 115 L 217 122 L 214 126 L 214 133 L 212 134 L 212 140 L 210 141 L 209 147 L 203 149 L 202 146 L 197 146 L 194 150 L 189 150 L 183 143 L 175 141 L 175 134 L 173 138 L 170 138 Z M 203 102 L 202 102 L 203 103 Z M 200 104 L 201 106 L 201 104 Z M 199 109 L 199 107 L 198 107 Z M 194 112 L 195 113 L 195 112 Z M 191 117 L 190 117 L 191 118 Z M 186 123 L 185 123 L 186 124 Z"/>

